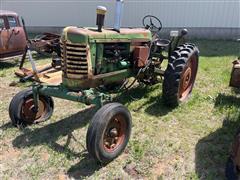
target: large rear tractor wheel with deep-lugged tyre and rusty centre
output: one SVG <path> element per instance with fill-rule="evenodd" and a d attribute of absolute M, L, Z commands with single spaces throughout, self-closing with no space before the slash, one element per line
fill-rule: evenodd
<path fill-rule="evenodd" d="M 193 44 L 179 46 L 170 56 L 164 73 L 163 100 L 176 107 L 190 96 L 198 70 L 198 49 Z"/>

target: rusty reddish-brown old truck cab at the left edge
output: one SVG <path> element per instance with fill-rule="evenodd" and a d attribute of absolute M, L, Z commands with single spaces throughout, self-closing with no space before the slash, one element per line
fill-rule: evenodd
<path fill-rule="evenodd" d="M 26 45 L 25 31 L 18 14 L 0 10 L 0 60 L 22 55 Z"/>

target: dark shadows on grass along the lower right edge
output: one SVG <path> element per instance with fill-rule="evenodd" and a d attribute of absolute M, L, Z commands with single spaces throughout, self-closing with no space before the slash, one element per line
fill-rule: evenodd
<path fill-rule="evenodd" d="M 219 94 L 216 108 L 240 107 L 240 98 Z M 234 136 L 240 127 L 240 112 L 227 114 L 222 127 L 200 139 L 195 147 L 195 170 L 200 179 L 225 179 L 225 165 Z"/>

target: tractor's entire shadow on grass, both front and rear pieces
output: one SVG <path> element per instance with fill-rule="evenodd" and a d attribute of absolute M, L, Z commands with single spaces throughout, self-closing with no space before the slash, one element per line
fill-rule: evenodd
<path fill-rule="evenodd" d="M 128 103 L 131 102 L 131 100 L 134 100 L 129 98 L 130 96 L 134 97 L 135 100 L 136 98 L 141 99 L 142 97 L 147 96 L 151 91 L 153 91 L 152 88 L 159 88 L 159 86 L 137 87 L 130 89 L 128 92 L 122 93 L 119 96 L 117 96 L 115 98 L 115 101 L 127 105 Z M 170 108 L 165 107 L 161 97 L 155 98 L 150 96 L 147 99 L 148 100 L 144 105 L 136 107 L 136 109 L 134 110 L 137 111 L 143 108 L 147 113 L 156 116 L 165 115 L 169 111 L 171 111 Z M 151 105 L 149 106 L 149 104 Z M 31 130 L 30 128 L 25 128 L 23 129 L 23 134 L 16 137 L 12 141 L 12 144 L 16 148 L 26 148 L 42 144 L 48 145 L 54 151 L 65 154 L 66 157 L 69 159 L 70 158 L 80 159 L 80 161 L 77 164 L 70 167 L 70 169 L 67 171 L 70 177 L 73 177 L 75 179 L 81 179 L 86 176 L 91 176 L 95 171 L 102 168 L 103 165 L 98 164 L 93 158 L 90 157 L 85 148 L 85 144 L 82 145 L 84 146 L 85 150 L 80 153 L 74 152 L 73 150 L 68 148 L 68 145 L 70 144 L 71 139 L 74 139 L 72 132 L 75 129 L 79 129 L 81 127 L 86 126 L 86 124 L 89 122 L 89 120 L 92 118 L 95 112 L 96 112 L 95 108 L 87 108 L 70 117 L 48 124 L 38 129 Z M 1 129 L 7 129 L 10 127 L 11 125 L 7 123 L 3 125 Z M 57 140 L 61 136 L 67 136 L 65 145 L 60 145 L 57 143 Z"/>

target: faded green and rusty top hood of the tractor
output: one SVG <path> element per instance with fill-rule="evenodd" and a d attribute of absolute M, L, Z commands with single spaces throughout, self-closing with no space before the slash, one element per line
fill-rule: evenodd
<path fill-rule="evenodd" d="M 87 44 L 93 42 L 148 42 L 152 40 L 152 34 L 144 28 L 121 28 L 120 33 L 113 29 L 66 27 L 61 37 L 62 41 Z"/>

